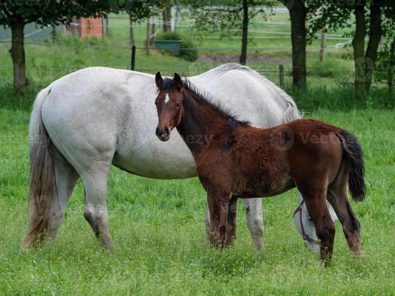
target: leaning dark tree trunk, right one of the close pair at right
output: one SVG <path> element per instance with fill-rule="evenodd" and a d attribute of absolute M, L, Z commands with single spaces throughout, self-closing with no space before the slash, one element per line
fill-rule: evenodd
<path fill-rule="evenodd" d="M 372 84 L 374 67 L 376 65 L 377 50 L 381 39 L 380 5 L 381 5 L 381 1 L 379 0 L 375 0 L 371 4 L 369 43 L 365 54 L 365 59 L 369 67 L 367 69 L 366 85 L 365 85 L 367 94 L 369 94 L 370 86 Z"/>

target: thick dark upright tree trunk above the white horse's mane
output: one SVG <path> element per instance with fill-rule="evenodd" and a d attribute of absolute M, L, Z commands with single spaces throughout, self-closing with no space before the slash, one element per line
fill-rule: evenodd
<path fill-rule="evenodd" d="M 306 89 L 306 7 L 303 1 L 295 1 L 290 7 L 292 40 L 293 87 Z"/>

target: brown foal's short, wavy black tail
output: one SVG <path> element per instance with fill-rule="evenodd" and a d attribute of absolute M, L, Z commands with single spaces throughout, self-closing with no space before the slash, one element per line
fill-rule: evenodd
<path fill-rule="evenodd" d="M 348 189 L 352 199 L 362 201 L 365 199 L 366 185 L 361 145 L 357 138 L 348 131 L 342 130 L 337 136 L 342 142 L 344 154 L 348 159 Z"/>

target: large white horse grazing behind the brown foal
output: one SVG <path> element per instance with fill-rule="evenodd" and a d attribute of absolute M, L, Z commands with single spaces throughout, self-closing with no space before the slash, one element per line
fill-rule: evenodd
<path fill-rule="evenodd" d="M 246 66 L 224 64 L 190 77 L 190 81 L 256 127 L 301 117 L 290 96 Z M 111 164 L 147 178 L 196 176 L 193 157 L 178 134 L 166 143 L 156 139 L 155 90 L 154 75 L 90 67 L 39 92 L 30 119 L 29 222 L 23 248 L 38 238 L 55 239 L 75 183 L 81 178 L 84 217 L 102 247 L 111 249 L 114 242 L 106 205 Z M 243 202 L 247 226 L 259 250 L 263 244 L 261 199 Z M 210 223 L 207 214 L 206 232 Z"/>

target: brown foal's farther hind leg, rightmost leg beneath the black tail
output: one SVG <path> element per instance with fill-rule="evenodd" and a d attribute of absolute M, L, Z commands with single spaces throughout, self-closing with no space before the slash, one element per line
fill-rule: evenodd
<path fill-rule="evenodd" d="M 355 254 L 361 251 L 361 224 L 351 208 L 347 195 L 348 168 L 346 160 L 342 161 L 339 173 L 328 187 L 327 199 L 342 223 L 348 247 Z"/>

